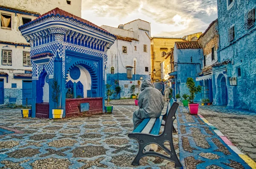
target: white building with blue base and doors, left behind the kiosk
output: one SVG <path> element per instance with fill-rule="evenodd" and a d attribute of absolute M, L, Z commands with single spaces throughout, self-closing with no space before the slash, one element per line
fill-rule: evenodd
<path fill-rule="evenodd" d="M 81 17 L 81 0 L 0 0 L 0 106 L 31 105 L 30 44 L 18 27 L 57 6 Z"/>

